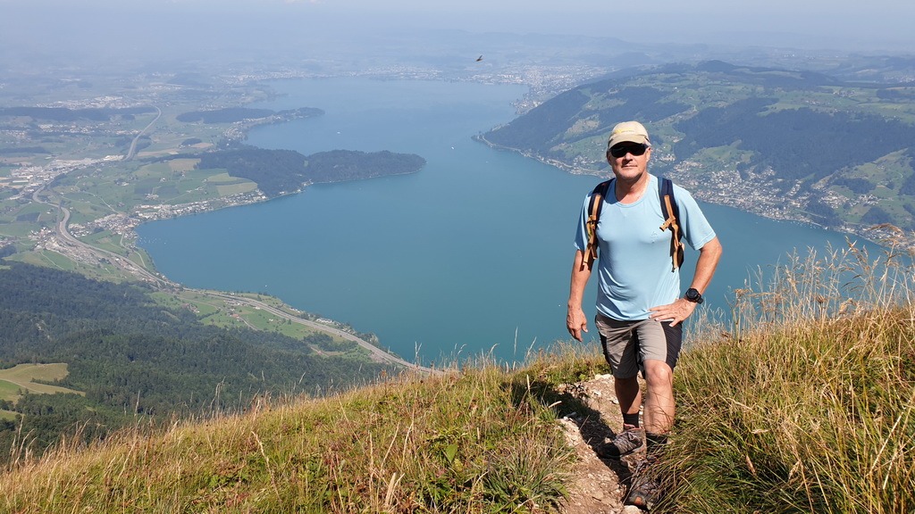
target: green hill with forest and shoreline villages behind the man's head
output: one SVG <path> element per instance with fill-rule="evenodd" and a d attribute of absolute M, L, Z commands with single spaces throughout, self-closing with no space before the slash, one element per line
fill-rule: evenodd
<path fill-rule="evenodd" d="M 630 119 L 649 128 L 651 170 L 698 198 L 856 233 L 881 223 L 915 230 L 911 84 L 670 64 L 565 91 L 481 137 L 601 174 L 609 130 Z"/>

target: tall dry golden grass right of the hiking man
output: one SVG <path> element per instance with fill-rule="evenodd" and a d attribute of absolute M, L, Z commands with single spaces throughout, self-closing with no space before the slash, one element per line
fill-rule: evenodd
<path fill-rule="evenodd" d="M 662 511 L 915 511 L 910 256 L 854 246 L 738 292 L 684 355 Z"/>

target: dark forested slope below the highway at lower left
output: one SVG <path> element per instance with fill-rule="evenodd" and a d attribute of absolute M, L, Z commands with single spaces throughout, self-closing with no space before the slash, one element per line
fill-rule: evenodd
<path fill-rule="evenodd" d="M 5 448 L 28 434 L 40 454 L 78 433 L 92 440 L 140 420 L 238 412 L 261 395 L 320 395 L 395 369 L 323 332 L 205 324 L 215 312 L 158 304 L 144 285 L 9 262 L 0 291 L 0 366 L 57 364 L 62 376 L 37 378 L 70 390 L 0 387 Z"/>

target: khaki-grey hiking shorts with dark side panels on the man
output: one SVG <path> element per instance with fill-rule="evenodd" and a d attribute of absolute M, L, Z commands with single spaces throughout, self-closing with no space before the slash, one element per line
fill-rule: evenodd
<path fill-rule="evenodd" d="M 629 379 L 639 370 L 644 377 L 647 359 L 666 362 L 671 369 L 676 366 L 683 345 L 683 325 L 671 327 L 670 322 L 654 319 L 618 321 L 599 314 L 594 321 L 614 377 Z"/>

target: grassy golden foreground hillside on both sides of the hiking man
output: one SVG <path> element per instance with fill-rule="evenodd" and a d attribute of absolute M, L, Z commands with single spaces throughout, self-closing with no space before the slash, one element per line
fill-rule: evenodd
<path fill-rule="evenodd" d="M 790 262 L 737 292 L 732 326 L 694 320 L 662 460 L 673 479 L 652 512 L 915 509 L 912 275 L 883 257 Z M 14 445 L 0 509 L 630 514 L 619 498 L 638 455 L 594 454 L 619 429 L 606 372 L 597 346 L 576 345 L 517 369 L 259 397 L 240 415 L 137 423 L 41 459 Z"/>

